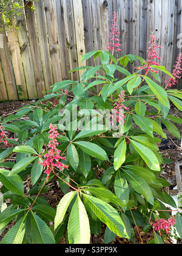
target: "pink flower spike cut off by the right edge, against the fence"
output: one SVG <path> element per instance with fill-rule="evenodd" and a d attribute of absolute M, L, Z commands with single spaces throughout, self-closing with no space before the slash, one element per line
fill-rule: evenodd
<path fill-rule="evenodd" d="M 182 53 L 180 52 L 180 54 L 177 57 L 176 64 L 174 66 L 174 70 L 172 72 L 172 76 L 174 76 L 176 79 L 181 79 L 181 73 L 182 73 L 181 62 L 182 62 Z M 171 87 L 172 85 L 176 85 L 177 82 L 178 81 L 175 80 L 174 78 L 169 77 L 165 81 L 165 83 L 167 84 L 166 87 Z"/>

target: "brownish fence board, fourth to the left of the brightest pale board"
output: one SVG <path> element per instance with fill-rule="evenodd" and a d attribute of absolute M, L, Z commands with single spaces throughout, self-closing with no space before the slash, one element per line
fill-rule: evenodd
<path fill-rule="evenodd" d="M 47 38 L 47 29 L 45 23 L 45 10 L 43 1 L 34 2 L 35 4 L 35 15 L 36 15 L 36 26 L 38 32 L 39 47 L 41 52 L 42 67 L 44 73 L 45 90 L 49 90 L 50 86 L 53 85 L 53 74 L 50 62 L 50 51 Z"/>

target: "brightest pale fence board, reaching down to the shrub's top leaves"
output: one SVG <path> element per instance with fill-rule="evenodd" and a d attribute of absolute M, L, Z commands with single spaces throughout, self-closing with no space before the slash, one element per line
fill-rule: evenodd
<path fill-rule="evenodd" d="M 75 18 L 75 37 L 76 49 L 78 55 L 78 66 L 86 66 L 86 62 L 82 62 L 81 58 L 86 54 L 86 46 L 84 40 L 84 22 L 83 22 L 83 5 L 81 0 L 73 0 L 73 13 Z M 84 70 L 79 71 L 79 77 Z"/>

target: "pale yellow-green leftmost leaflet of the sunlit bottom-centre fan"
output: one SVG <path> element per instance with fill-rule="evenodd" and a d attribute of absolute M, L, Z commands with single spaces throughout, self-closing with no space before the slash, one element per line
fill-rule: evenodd
<path fill-rule="evenodd" d="M 64 215 L 66 214 L 67 208 L 69 207 L 70 202 L 75 196 L 76 191 L 72 191 L 62 197 L 61 201 L 58 204 L 55 216 L 55 229 L 59 226 L 59 224 L 64 219 Z"/>

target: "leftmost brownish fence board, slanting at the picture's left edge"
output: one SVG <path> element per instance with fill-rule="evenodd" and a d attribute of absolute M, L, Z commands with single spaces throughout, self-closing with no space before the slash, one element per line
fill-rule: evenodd
<path fill-rule="evenodd" d="M 7 99 L 16 100 L 18 99 L 18 93 L 16 90 L 16 82 L 15 82 L 15 76 L 13 73 L 10 49 L 7 43 L 7 36 L 5 32 L 1 32 L 1 34 L 3 37 L 3 48 L 0 48 L 0 59 L 2 63 L 2 71 L 4 73 L 5 86 L 7 88 L 7 93 L 8 93 Z"/>

